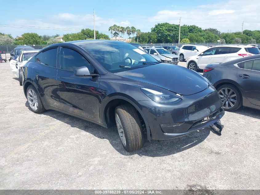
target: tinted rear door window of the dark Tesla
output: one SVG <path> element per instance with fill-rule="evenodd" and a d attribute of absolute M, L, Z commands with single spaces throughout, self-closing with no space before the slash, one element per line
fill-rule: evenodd
<path fill-rule="evenodd" d="M 56 67 L 57 51 L 58 51 L 57 47 L 53 49 L 49 49 L 47 51 L 43 51 L 36 56 L 36 60 L 39 63 L 44 64 L 46 66 Z"/>

